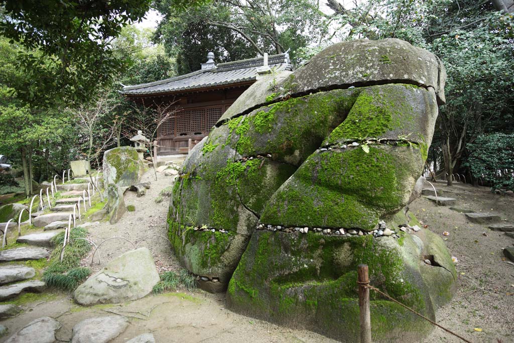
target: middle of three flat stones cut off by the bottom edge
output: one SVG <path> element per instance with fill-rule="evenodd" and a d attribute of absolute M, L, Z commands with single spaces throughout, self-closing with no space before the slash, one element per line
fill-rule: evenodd
<path fill-rule="evenodd" d="M 73 327 L 71 343 L 106 343 L 118 337 L 128 327 L 121 316 L 84 319 Z"/>

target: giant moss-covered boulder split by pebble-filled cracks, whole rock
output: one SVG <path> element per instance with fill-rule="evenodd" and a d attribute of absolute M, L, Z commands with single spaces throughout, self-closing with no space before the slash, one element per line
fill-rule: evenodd
<path fill-rule="evenodd" d="M 230 280 L 237 312 L 343 341 L 356 338 L 359 263 L 375 285 L 433 317 L 454 286 L 444 244 L 428 231 L 372 231 L 407 222 L 393 219 L 423 170 L 445 77 L 430 52 L 391 39 L 335 44 L 294 73 L 255 82 L 174 185 L 168 222 L 179 260 L 200 277 Z M 439 260 L 429 269 L 428 255 Z M 383 341 L 429 329 L 373 301 Z"/>

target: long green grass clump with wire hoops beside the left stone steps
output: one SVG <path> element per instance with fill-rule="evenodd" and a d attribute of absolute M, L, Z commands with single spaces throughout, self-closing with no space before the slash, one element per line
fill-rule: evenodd
<path fill-rule="evenodd" d="M 82 227 L 70 231 L 71 240 L 85 238 L 87 230 Z M 52 239 L 56 249 L 50 255 L 50 266 L 43 273 L 43 281 L 49 287 L 62 291 L 74 290 L 80 282 L 91 274 L 89 268 L 80 267 L 80 260 L 89 252 L 91 246 L 84 240 L 70 241 L 64 248 L 63 261 L 60 261 L 61 246 L 64 242 L 64 232 Z"/>

